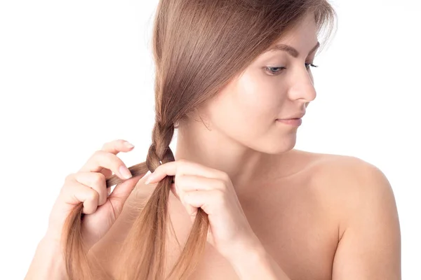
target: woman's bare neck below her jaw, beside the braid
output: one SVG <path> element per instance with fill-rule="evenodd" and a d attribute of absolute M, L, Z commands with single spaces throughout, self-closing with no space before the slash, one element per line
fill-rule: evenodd
<path fill-rule="evenodd" d="M 280 155 L 250 149 L 226 134 L 208 130 L 201 122 L 179 127 L 176 139 L 175 160 L 189 160 L 225 172 L 237 191 L 276 176 L 274 167 Z"/>

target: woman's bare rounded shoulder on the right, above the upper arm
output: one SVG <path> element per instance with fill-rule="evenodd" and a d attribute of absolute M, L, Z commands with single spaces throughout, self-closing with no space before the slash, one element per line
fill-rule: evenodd
<path fill-rule="evenodd" d="M 295 155 L 301 159 L 306 170 L 303 176 L 311 180 L 312 190 L 340 215 L 341 235 L 352 219 L 370 216 L 373 211 L 397 219 L 392 186 L 379 167 L 349 155 L 307 151 L 295 151 Z"/>

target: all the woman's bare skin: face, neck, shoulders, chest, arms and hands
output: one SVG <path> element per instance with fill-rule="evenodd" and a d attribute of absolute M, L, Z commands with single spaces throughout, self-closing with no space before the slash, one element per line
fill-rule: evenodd
<path fill-rule="evenodd" d="M 212 239 L 192 280 L 401 279 L 399 218 L 385 174 L 358 158 L 295 150 L 298 127 L 276 121 L 305 111 L 316 98 L 309 67 L 317 43 L 313 16 L 307 15 L 277 43 L 295 48 L 298 56 L 283 50 L 263 53 L 198 108 L 196 116 L 179 123 L 175 162 L 158 167 L 149 185 L 149 176 L 130 179 L 114 190 L 120 190 L 119 199 L 100 205 L 105 185 L 98 186 L 104 178 L 92 175 L 96 184 L 83 181 L 99 192 L 88 195 L 84 190 L 80 196 L 75 194 L 83 188 L 71 178 L 67 184 L 73 182 L 74 187 L 68 185 L 73 193 L 62 192 L 55 206 L 61 214 L 48 230 L 54 233 L 41 241 L 27 279 L 60 279 L 62 265 L 48 260 L 57 256 L 60 223 L 77 200 L 84 206 L 86 201 L 90 225 L 105 224 L 96 233 L 85 225 L 84 238 L 93 244 L 90 257 L 115 276 L 129 221 L 165 174 L 175 175 L 177 188 L 172 189 L 168 211 L 181 244 L 189 235 L 194 208 L 210 214 Z M 111 156 L 115 151 L 107 153 L 101 160 L 95 155 L 96 167 L 83 172 L 104 172 L 100 167 L 107 158 L 105 168 L 119 175 L 121 161 Z M 178 173 L 180 168 L 189 169 L 187 175 Z M 134 185 L 138 188 L 131 192 Z M 92 214 L 97 199 L 96 211 L 108 205 L 98 216 Z M 121 212 L 113 215 L 114 205 Z M 239 249 L 219 245 L 234 237 L 243 244 L 236 246 Z M 168 237 L 167 269 L 178 255 L 177 242 Z M 56 277 L 48 278 L 51 275 Z"/>

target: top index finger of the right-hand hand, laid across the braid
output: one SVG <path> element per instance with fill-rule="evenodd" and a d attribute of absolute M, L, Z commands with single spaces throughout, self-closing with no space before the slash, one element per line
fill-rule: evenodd
<path fill-rule="evenodd" d="M 175 176 L 176 174 L 200 175 L 207 178 L 228 179 L 227 174 L 218 169 L 205 167 L 196 162 L 187 160 L 175 160 L 174 162 L 166 162 L 159 165 L 155 171 L 149 176 L 147 183 L 156 183 L 166 176 Z"/>

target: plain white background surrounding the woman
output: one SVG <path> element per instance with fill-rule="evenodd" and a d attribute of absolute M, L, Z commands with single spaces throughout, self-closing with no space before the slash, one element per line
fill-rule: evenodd
<path fill-rule="evenodd" d="M 65 176 L 105 141 L 135 144 L 126 165 L 145 160 L 157 2 L 0 1 L 1 279 L 24 278 Z M 318 95 L 295 148 L 356 156 L 386 174 L 403 279 L 421 279 L 420 4 L 331 3 L 338 33 L 315 59 Z"/>

